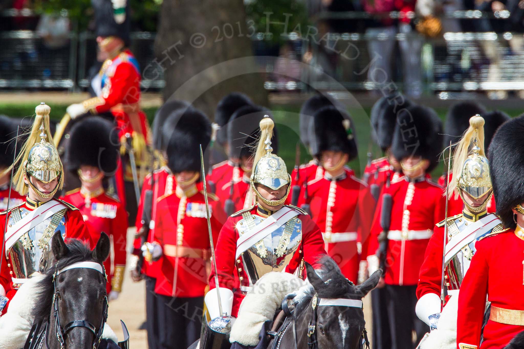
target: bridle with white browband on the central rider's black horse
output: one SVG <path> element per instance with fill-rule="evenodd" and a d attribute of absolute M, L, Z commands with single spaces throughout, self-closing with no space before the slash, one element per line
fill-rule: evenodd
<path fill-rule="evenodd" d="M 353 308 L 361 308 L 362 309 L 362 300 L 357 299 L 346 299 L 346 298 L 319 298 L 318 294 L 315 294 L 313 296 L 313 299 L 311 300 L 311 318 L 309 319 L 308 323 L 308 348 L 309 349 L 318 349 L 318 339 L 316 338 L 316 321 L 318 319 L 318 315 L 316 314 L 316 310 L 319 306 L 342 306 L 342 307 L 353 307 Z M 369 349 L 369 340 L 367 339 L 367 331 L 366 328 L 362 330 L 361 338 L 360 338 L 360 349 Z"/>

